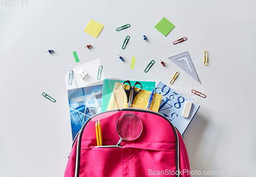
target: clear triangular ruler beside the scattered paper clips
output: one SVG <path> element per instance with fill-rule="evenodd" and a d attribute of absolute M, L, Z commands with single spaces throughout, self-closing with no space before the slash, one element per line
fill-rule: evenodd
<path fill-rule="evenodd" d="M 172 60 L 175 64 L 177 64 L 178 67 L 184 70 L 187 74 L 189 74 L 191 77 L 196 79 L 199 83 L 201 83 L 197 75 L 196 69 L 194 67 L 194 64 L 187 51 L 181 54 L 169 57 L 169 59 Z"/>

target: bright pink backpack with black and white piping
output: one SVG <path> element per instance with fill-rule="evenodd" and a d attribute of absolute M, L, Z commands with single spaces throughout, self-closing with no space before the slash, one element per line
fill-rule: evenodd
<path fill-rule="evenodd" d="M 124 114 L 138 116 L 143 124 L 133 141 L 120 139 L 116 123 Z M 102 144 L 97 146 L 95 120 L 100 119 Z M 190 176 L 189 160 L 182 136 L 163 115 L 151 110 L 124 108 L 91 117 L 73 142 L 65 177 L 84 176 Z"/>

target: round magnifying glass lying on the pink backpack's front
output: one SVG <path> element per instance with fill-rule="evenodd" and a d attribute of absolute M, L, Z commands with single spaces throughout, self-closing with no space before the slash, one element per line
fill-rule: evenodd
<path fill-rule="evenodd" d="M 142 132 L 143 126 L 140 118 L 134 114 L 124 114 L 116 121 L 116 132 L 120 140 L 116 144 L 120 146 L 123 140 L 132 141 L 137 139 Z"/>

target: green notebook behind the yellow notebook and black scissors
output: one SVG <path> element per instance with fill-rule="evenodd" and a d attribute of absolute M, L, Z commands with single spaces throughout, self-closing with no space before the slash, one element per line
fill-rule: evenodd
<path fill-rule="evenodd" d="M 114 79 L 104 79 L 102 88 L 102 104 L 101 112 L 108 108 L 110 98 L 116 82 L 124 82 L 125 80 L 114 80 Z M 136 81 L 131 80 L 131 85 L 133 86 Z M 142 89 L 146 91 L 152 91 L 156 88 L 156 82 L 154 81 L 139 81 L 142 84 Z"/>

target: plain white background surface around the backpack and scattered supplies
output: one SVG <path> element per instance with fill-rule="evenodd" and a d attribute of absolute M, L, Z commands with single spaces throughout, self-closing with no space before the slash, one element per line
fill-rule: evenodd
<path fill-rule="evenodd" d="M 255 1 L 27 2 L 0 5 L 0 176 L 63 176 L 72 144 L 65 75 L 94 59 L 106 78 L 168 84 L 179 71 L 170 86 L 201 105 L 184 134 L 191 170 L 256 174 Z M 166 37 L 154 28 L 163 17 L 176 26 Z M 105 26 L 98 38 L 83 32 L 90 19 Z M 128 23 L 130 28 L 116 32 Z M 122 50 L 126 35 L 131 38 Z M 185 51 L 202 84 L 168 59 Z"/>

